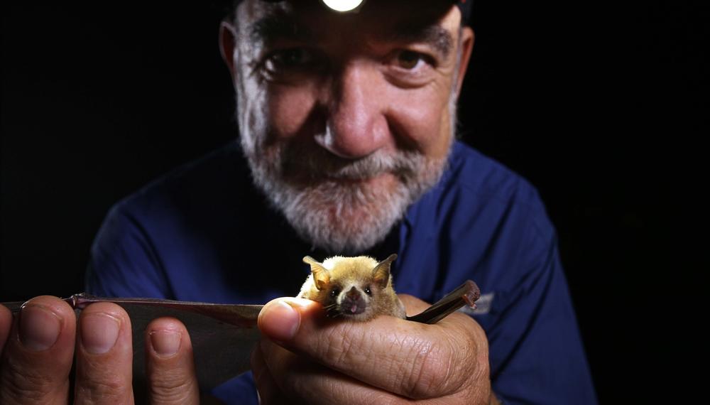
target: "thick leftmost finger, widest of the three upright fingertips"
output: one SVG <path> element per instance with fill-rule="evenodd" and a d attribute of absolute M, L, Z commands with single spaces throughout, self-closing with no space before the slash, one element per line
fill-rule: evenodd
<path fill-rule="evenodd" d="M 6 331 L 9 318 L 3 313 L 0 329 Z M 6 338 L 0 404 L 65 403 L 75 333 L 76 318 L 69 304 L 51 296 L 28 301 Z"/>

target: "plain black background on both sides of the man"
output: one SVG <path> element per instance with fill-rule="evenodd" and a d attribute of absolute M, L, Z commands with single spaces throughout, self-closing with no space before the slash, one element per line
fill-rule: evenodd
<path fill-rule="evenodd" d="M 16 3 L 2 6 L 0 301 L 81 291 L 111 204 L 235 134 L 221 6 Z M 702 19 L 684 1 L 474 6 L 464 140 L 540 190 L 603 403 L 702 388 Z"/>

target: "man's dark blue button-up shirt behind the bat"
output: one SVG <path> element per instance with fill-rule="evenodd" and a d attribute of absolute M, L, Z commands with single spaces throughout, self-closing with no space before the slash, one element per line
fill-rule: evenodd
<path fill-rule="evenodd" d="M 596 397 L 557 252 L 535 188 L 457 142 L 442 180 L 385 241 L 394 286 L 434 302 L 466 279 L 486 330 L 493 392 L 507 404 L 594 404 Z M 253 188 L 233 142 L 116 204 L 92 246 L 87 291 L 216 303 L 294 296 L 332 255 L 300 240 Z M 256 404 L 247 374 L 213 392 Z"/>

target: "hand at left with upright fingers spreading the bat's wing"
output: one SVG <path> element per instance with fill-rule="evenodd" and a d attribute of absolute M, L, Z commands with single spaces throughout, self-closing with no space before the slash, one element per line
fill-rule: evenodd
<path fill-rule="evenodd" d="M 146 372 L 153 404 L 198 404 L 192 345 L 173 318 L 146 328 Z M 113 303 L 81 312 L 51 296 L 33 298 L 13 320 L 0 305 L 0 404 L 130 404 L 131 320 Z M 171 354 L 172 353 L 172 354 Z M 75 391 L 70 371 L 76 360 Z"/>

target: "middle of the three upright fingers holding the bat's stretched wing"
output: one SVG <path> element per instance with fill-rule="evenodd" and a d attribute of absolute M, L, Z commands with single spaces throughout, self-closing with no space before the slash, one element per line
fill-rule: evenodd
<path fill-rule="evenodd" d="M 131 320 L 114 303 L 94 303 L 79 317 L 75 404 L 133 401 Z"/>

